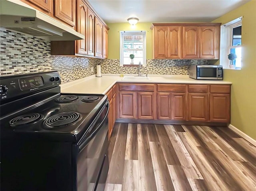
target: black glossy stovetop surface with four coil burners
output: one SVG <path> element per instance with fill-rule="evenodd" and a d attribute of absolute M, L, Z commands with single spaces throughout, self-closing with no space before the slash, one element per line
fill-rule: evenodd
<path fill-rule="evenodd" d="M 86 126 L 84 120 L 90 113 L 97 114 L 95 110 L 104 100 L 104 95 L 60 95 L 26 112 L 4 118 L 1 126 L 15 132 L 78 134 L 79 126 Z"/>

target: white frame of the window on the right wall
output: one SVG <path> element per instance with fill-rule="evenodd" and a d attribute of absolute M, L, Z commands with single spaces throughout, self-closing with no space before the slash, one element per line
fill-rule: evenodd
<path fill-rule="evenodd" d="M 242 17 L 239 17 L 231 22 L 228 22 L 221 26 L 221 38 L 220 38 L 220 46 L 223 43 L 226 43 L 227 46 L 220 47 L 220 65 L 223 66 L 224 69 L 230 69 L 229 63 L 230 60 L 228 59 L 228 54 L 230 54 L 232 48 L 242 48 L 242 34 L 241 34 L 241 45 L 233 46 L 233 28 L 238 26 L 242 26 Z M 226 34 L 225 34 L 226 33 Z M 225 59 L 223 59 L 225 57 Z M 242 67 L 242 59 L 241 59 L 241 67 Z M 236 67 L 235 69 L 241 69 L 241 67 Z"/>

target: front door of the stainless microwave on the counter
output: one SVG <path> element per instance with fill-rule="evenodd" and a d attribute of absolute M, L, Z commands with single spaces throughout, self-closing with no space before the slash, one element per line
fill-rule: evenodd
<path fill-rule="evenodd" d="M 197 66 L 197 79 L 204 80 L 216 80 L 218 79 L 218 67 L 217 66 Z"/>

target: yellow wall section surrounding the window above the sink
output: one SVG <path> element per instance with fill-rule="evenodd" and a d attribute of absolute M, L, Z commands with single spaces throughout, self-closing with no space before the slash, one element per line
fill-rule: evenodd
<path fill-rule="evenodd" d="M 146 31 L 146 59 L 153 58 L 152 23 L 140 23 L 131 26 L 127 23 L 108 23 L 108 59 L 120 59 L 120 31 Z"/>

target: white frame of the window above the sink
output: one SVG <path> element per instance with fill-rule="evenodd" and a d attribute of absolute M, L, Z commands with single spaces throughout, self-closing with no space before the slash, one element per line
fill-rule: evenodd
<path fill-rule="evenodd" d="M 142 49 L 124 49 L 124 34 L 130 34 L 130 35 L 143 35 L 143 48 Z M 146 31 L 120 31 L 120 66 L 136 66 L 138 67 L 138 63 L 134 63 L 133 65 L 131 64 L 124 64 L 124 51 L 136 51 L 140 50 L 143 51 L 143 62 L 142 66 L 146 66 Z"/>

